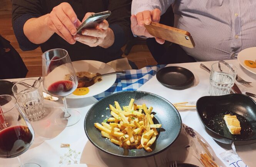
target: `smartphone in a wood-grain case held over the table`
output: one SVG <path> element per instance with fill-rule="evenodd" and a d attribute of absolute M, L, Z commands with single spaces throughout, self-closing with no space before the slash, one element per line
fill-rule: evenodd
<path fill-rule="evenodd" d="M 194 48 L 195 43 L 189 32 L 152 22 L 150 25 L 144 25 L 149 34 L 172 43 L 177 43 L 188 48 Z"/>

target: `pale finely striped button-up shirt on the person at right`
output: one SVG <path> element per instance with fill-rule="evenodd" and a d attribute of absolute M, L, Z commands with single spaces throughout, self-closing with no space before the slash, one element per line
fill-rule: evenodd
<path fill-rule="evenodd" d="M 133 0 L 132 14 L 172 5 L 174 27 L 191 33 L 195 48 L 182 48 L 197 61 L 235 59 L 256 46 L 256 0 Z M 256 55 L 256 53 L 255 53 Z"/>

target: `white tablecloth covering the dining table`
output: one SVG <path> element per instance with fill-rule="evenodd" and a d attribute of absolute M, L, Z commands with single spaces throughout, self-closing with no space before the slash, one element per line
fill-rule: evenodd
<path fill-rule="evenodd" d="M 237 60 L 229 60 L 228 62 L 233 63 L 238 67 L 238 74 L 246 81 L 256 82 L 256 75 L 249 73 L 241 66 Z M 214 62 L 203 62 L 208 68 Z M 182 63 L 182 64 L 170 64 L 169 66 L 181 66 L 189 69 L 195 76 L 194 85 L 188 89 L 184 90 L 174 90 L 169 89 L 162 84 L 160 84 L 156 76 L 149 80 L 146 84 L 139 88 L 140 91 L 147 91 L 150 93 L 158 94 L 163 98 L 167 99 L 171 103 L 184 102 L 184 101 L 197 101 L 198 98 L 208 95 L 209 90 L 209 73 L 199 68 L 200 63 Z M 11 81 L 18 81 L 21 79 L 12 79 Z M 249 91 L 256 94 L 256 85 L 254 88 L 246 88 L 241 84 L 238 84 L 239 88 L 243 91 Z M 85 132 L 84 132 L 84 118 L 87 111 L 90 109 L 92 104 L 97 100 L 95 98 L 84 98 L 84 99 L 67 99 L 67 104 L 69 108 L 76 109 L 81 114 L 80 121 L 71 127 L 62 128 L 54 123 L 55 116 L 62 112 L 63 104 L 62 101 L 53 102 L 45 100 L 45 117 L 36 122 L 32 122 L 32 126 L 35 130 L 35 141 L 33 142 L 31 148 L 22 154 L 22 159 L 24 163 L 35 162 L 40 164 L 42 167 L 58 167 L 60 166 L 60 156 L 63 156 L 67 153 L 67 148 L 60 148 L 61 143 L 68 143 L 71 146 L 71 149 L 81 152 L 78 156 L 78 163 L 84 164 L 83 166 L 93 167 L 93 165 L 103 164 L 104 166 L 128 166 L 127 159 L 122 159 L 119 157 L 114 157 L 111 159 L 110 155 L 106 155 L 104 152 L 96 149 L 90 141 L 88 141 Z M 222 146 L 217 144 L 204 130 L 196 110 L 191 111 L 180 111 L 182 122 L 188 126 L 195 129 L 201 136 L 210 144 L 216 155 L 219 155 L 221 152 L 231 149 L 231 146 Z M 94 127 L 92 127 L 94 128 Z M 243 149 L 244 148 L 244 149 Z M 178 148 L 176 148 L 178 149 Z M 246 164 L 253 164 L 251 155 L 256 155 L 256 144 L 251 146 L 239 146 L 237 147 L 238 153 L 242 156 L 243 161 Z M 174 154 L 173 154 L 174 155 Z M 95 156 L 98 160 L 100 157 L 101 162 L 94 162 Z M 184 155 L 184 162 L 192 163 L 193 158 L 189 155 Z M 110 165 L 110 160 L 118 159 L 119 164 Z M 219 157 L 219 159 L 221 159 Z M 157 160 L 157 164 L 161 164 L 161 160 Z M 202 166 L 201 164 L 196 164 Z M 17 158 L 12 159 L 0 159 L 0 167 L 18 167 Z M 135 165 L 136 166 L 136 165 Z M 134 167 L 135 167 L 134 166 Z M 153 157 L 144 159 L 143 166 L 155 167 Z M 251 165 L 253 167 L 253 165 Z"/>

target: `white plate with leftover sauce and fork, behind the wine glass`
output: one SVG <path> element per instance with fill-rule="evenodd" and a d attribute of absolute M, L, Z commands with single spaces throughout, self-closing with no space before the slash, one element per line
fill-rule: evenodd
<path fill-rule="evenodd" d="M 100 61 L 94 61 L 94 60 L 80 60 L 80 61 L 74 61 L 72 62 L 75 72 L 81 72 L 81 71 L 87 71 L 90 73 L 112 73 L 115 72 L 115 70 L 109 66 L 106 63 L 102 63 Z M 88 98 L 91 96 L 95 96 L 97 94 L 100 94 L 104 92 L 105 90 L 109 89 L 116 80 L 116 74 L 109 75 L 109 76 L 102 76 L 102 81 L 96 82 L 92 86 L 89 86 L 89 93 L 77 96 L 74 94 L 70 94 L 67 96 L 69 99 L 79 99 L 79 98 Z"/>

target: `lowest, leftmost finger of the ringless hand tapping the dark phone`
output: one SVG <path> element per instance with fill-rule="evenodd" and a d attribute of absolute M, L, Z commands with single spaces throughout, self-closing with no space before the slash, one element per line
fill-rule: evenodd
<path fill-rule="evenodd" d="M 75 40 L 73 39 L 73 36 L 70 34 L 69 30 L 62 24 L 62 22 L 59 20 L 59 18 L 55 15 L 53 16 L 52 22 L 54 23 L 56 29 L 60 31 L 60 33 L 65 37 L 65 39 L 70 43 L 74 44 Z"/>

